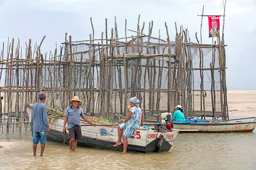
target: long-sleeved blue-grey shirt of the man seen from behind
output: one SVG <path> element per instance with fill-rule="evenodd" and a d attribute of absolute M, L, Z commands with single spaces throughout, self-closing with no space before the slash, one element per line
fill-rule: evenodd
<path fill-rule="evenodd" d="M 33 132 L 46 132 L 49 126 L 46 105 L 38 102 L 33 106 L 31 124 Z"/>

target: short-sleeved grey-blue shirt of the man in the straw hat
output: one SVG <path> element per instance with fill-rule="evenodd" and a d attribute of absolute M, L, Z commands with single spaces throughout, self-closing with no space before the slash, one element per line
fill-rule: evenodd
<path fill-rule="evenodd" d="M 73 128 L 76 125 L 81 127 L 80 117 L 84 116 L 83 111 L 79 106 L 77 107 L 76 110 L 74 110 L 72 108 L 72 106 L 73 105 L 68 107 L 65 112 L 65 116 L 68 116 L 68 128 L 67 129 Z"/>

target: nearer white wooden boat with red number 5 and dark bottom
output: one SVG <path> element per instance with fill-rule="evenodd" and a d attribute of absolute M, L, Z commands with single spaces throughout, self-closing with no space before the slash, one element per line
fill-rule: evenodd
<path fill-rule="evenodd" d="M 28 110 L 31 117 L 32 111 Z M 62 132 L 63 118 L 58 118 L 50 124 L 50 132 L 47 135 L 49 140 L 66 143 L 69 142 L 69 134 Z M 78 140 L 77 145 L 81 147 L 93 147 L 122 151 L 123 146 L 113 147 L 118 139 L 117 126 L 83 126 L 81 122 L 82 140 Z M 140 127 L 135 130 L 131 138 L 128 138 L 128 151 L 139 151 L 144 153 L 169 151 L 179 131 L 164 131 L 144 129 Z M 122 141 L 121 141 L 122 142 Z"/>

